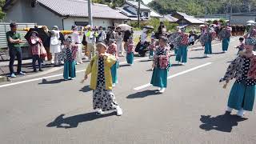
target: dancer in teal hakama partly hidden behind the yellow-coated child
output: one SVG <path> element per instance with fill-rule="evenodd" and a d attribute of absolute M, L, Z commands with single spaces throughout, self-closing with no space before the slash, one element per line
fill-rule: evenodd
<path fill-rule="evenodd" d="M 114 43 L 114 39 L 110 40 L 110 45 L 108 46 L 106 53 L 113 55 L 117 62 L 114 63 L 114 65 L 111 67 L 111 75 L 112 75 L 112 82 L 113 86 L 116 86 L 118 83 L 118 46 Z"/>

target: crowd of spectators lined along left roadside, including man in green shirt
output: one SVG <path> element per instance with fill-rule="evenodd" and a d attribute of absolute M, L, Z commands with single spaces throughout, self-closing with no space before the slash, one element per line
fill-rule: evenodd
<path fill-rule="evenodd" d="M 10 77 L 15 78 L 17 74 L 24 75 L 22 71 L 22 38 L 17 32 L 17 24 L 10 23 L 10 31 L 6 33 L 6 38 L 10 53 Z M 133 30 L 122 30 L 119 27 L 109 26 L 108 30 L 103 30 L 102 26 L 85 26 L 78 30 L 78 26 L 71 27 L 70 37 L 74 45 L 78 46 L 78 52 L 75 58 L 76 64 L 81 64 L 82 58 L 91 59 L 96 50 L 95 46 L 98 42 L 103 42 L 106 45 L 115 42 L 118 46 L 118 56 L 124 56 L 124 47 L 133 35 Z M 32 66 L 34 72 L 42 71 L 42 65 L 54 64 L 54 66 L 61 66 L 64 64 L 62 60 L 62 49 L 65 46 L 65 35 L 59 30 L 58 26 L 53 26 L 51 30 L 47 26 L 42 26 L 44 31 L 44 38 L 38 34 L 38 31 L 30 31 L 30 38 L 27 39 L 31 48 Z M 85 52 L 83 54 L 83 51 Z M 14 73 L 14 60 L 18 59 L 17 73 Z M 36 66 L 38 62 L 38 70 Z"/>

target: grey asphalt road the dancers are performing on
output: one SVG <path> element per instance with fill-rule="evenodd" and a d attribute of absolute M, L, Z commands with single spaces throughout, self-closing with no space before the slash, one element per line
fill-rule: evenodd
<path fill-rule="evenodd" d="M 211 58 L 202 58 L 203 50 L 190 50 L 186 66 L 172 58 L 165 94 L 147 85 L 152 74 L 147 58 L 136 58 L 134 66 L 122 63 L 114 88 L 121 117 L 95 115 L 89 81 L 80 83 L 82 65 L 74 81 L 62 81 L 57 70 L 2 83 L 0 143 L 255 144 L 255 111 L 245 118 L 225 115 L 232 85 L 223 90 L 218 83 L 237 53 L 238 38 L 233 39 L 226 54 L 214 45 Z"/>

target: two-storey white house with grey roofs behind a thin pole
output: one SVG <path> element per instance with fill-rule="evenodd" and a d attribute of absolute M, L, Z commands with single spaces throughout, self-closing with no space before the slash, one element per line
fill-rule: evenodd
<path fill-rule="evenodd" d="M 116 8 L 121 14 L 125 14 L 131 21 L 138 20 L 138 2 L 126 0 L 122 7 Z M 141 20 L 149 20 L 150 18 L 162 18 L 161 14 L 158 14 L 150 7 L 141 3 L 140 5 L 140 18 Z"/>

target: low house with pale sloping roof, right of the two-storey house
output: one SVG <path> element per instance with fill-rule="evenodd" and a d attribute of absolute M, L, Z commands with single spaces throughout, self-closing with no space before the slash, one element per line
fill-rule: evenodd
<path fill-rule="evenodd" d="M 204 23 L 204 21 L 201 21 L 194 16 L 190 16 L 181 12 L 174 12 L 171 14 L 171 16 L 178 19 L 176 23 L 178 23 L 180 26 L 199 26 Z"/>

